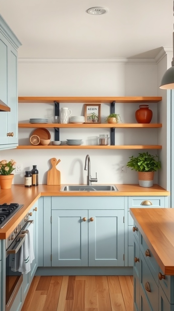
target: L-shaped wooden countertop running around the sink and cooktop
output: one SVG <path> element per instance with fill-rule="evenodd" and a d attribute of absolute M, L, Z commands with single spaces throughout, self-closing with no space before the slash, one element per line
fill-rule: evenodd
<path fill-rule="evenodd" d="M 0 189 L 0 204 L 3 203 L 19 203 L 24 204 L 13 218 L 0 229 L 0 239 L 7 239 L 9 234 L 16 228 L 20 220 L 24 218 L 33 204 L 41 196 L 61 196 L 61 197 L 92 197 L 92 196 L 169 196 L 170 192 L 161 188 L 159 185 L 155 185 L 150 188 L 140 187 L 138 184 L 115 184 L 119 191 L 116 192 L 67 192 L 61 191 L 60 186 L 52 185 L 38 185 L 36 187 L 26 188 L 24 185 L 12 185 L 11 189 Z"/>

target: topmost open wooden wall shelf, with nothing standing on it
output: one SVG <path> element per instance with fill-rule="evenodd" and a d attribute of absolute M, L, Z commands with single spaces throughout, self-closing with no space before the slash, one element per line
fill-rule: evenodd
<path fill-rule="evenodd" d="M 128 96 L 128 97 L 59 97 L 59 96 L 20 96 L 18 97 L 19 103 L 50 103 L 52 104 L 54 101 L 58 103 L 158 103 L 162 100 L 161 96 Z"/>

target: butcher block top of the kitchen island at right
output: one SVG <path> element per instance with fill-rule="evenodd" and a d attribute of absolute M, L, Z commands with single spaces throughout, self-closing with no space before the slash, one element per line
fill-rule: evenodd
<path fill-rule="evenodd" d="M 174 208 L 130 208 L 138 229 L 166 275 L 174 275 Z"/>

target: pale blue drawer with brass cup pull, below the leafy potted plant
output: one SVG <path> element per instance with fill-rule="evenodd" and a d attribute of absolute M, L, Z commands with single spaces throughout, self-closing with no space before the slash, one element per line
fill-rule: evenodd
<path fill-rule="evenodd" d="M 131 207 L 165 207 L 165 200 L 164 197 L 128 197 L 128 209 Z"/>

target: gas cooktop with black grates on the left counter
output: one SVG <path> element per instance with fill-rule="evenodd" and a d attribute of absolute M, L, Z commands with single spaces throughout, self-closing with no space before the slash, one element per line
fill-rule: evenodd
<path fill-rule="evenodd" d="M 17 213 L 24 204 L 4 203 L 0 205 L 0 229 Z"/>

